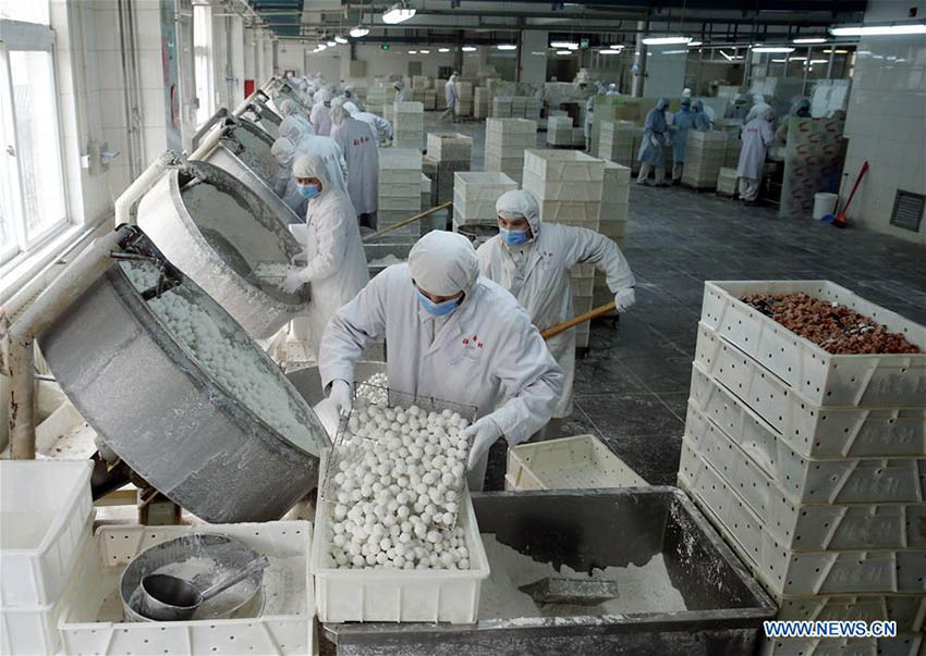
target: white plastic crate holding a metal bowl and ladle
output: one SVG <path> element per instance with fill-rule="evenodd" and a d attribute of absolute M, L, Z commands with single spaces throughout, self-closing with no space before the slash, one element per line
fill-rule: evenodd
<path fill-rule="evenodd" d="M 119 578 L 139 553 L 187 533 L 223 533 L 267 554 L 259 617 L 182 622 L 125 622 Z M 315 599 L 308 571 L 312 524 L 277 521 L 193 527 L 103 527 L 93 557 L 60 620 L 68 654 L 313 654 Z M 114 597 L 114 603 L 112 597 Z M 110 603 L 103 603 L 110 599 Z"/>

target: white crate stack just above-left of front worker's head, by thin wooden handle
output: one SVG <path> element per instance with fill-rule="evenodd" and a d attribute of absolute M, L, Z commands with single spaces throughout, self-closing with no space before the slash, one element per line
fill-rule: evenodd
<path fill-rule="evenodd" d="M 417 148 L 379 151 L 379 209 L 377 228 L 395 225 L 422 211 L 422 152 Z M 390 233 L 393 237 L 421 236 L 421 222 Z"/>

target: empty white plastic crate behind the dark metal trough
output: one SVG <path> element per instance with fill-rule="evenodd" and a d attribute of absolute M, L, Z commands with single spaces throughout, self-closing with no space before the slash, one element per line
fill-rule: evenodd
<path fill-rule="evenodd" d="M 505 490 L 637 487 L 647 482 L 594 435 L 520 444 L 508 449 Z"/>

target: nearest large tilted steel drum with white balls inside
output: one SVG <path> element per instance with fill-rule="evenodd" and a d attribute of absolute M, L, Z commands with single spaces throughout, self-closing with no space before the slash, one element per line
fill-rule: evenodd
<path fill-rule="evenodd" d="M 279 519 L 317 485 L 325 429 L 232 317 L 137 233 L 143 247 L 115 256 L 133 259 L 40 335 L 42 354 L 106 446 L 170 499 L 209 522 Z"/>

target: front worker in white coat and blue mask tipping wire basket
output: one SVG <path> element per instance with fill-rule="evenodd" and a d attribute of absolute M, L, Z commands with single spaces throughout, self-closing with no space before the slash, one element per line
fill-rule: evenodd
<path fill-rule="evenodd" d="M 475 406 L 470 490 L 482 490 L 489 447 L 527 440 L 550 419 L 562 371 L 517 300 L 479 275 L 463 235 L 431 231 L 338 310 L 321 339 L 318 369 L 329 399 L 350 412 L 354 363 L 386 338 L 389 387 Z M 496 407 L 499 397 L 508 400 Z"/>

